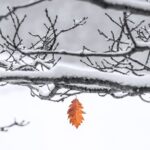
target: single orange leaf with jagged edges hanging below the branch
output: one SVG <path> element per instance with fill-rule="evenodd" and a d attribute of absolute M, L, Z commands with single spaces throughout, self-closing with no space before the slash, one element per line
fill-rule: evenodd
<path fill-rule="evenodd" d="M 83 118 L 84 112 L 82 111 L 82 109 L 83 106 L 79 102 L 79 100 L 74 99 L 71 102 L 71 105 L 69 106 L 69 109 L 67 111 L 68 119 L 70 120 L 70 123 L 74 125 L 76 128 L 78 128 L 84 120 Z"/>

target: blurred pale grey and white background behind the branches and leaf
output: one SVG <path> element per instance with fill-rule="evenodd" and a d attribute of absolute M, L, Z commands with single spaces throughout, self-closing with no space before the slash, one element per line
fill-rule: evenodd
<path fill-rule="evenodd" d="M 0 11 L 6 6 L 26 3 L 26 0 L 0 0 Z M 97 28 L 108 32 L 113 25 L 104 16 L 105 11 L 91 4 L 75 0 L 54 0 L 40 6 L 19 11 L 28 18 L 22 29 L 26 44 L 30 42 L 28 31 L 42 34 L 45 21 L 44 9 L 48 8 L 52 17 L 59 15 L 59 27 L 71 25 L 72 19 L 88 16 L 88 23 L 60 38 L 60 48 L 75 51 L 83 45 L 101 50 L 106 47 L 101 42 Z M 117 19 L 121 13 L 107 11 Z M 137 18 L 138 20 L 139 18 Z M 5 26 L 4 26 L 5 25 Z M 10 23 L 0 24 L 7 33 Z M 76 60 L 63 59 L 76 63 Z M 26 127 L 14 127 L 9 132 L 0 132 L 1 150 L 149 150 L 150 149 L 150 104 L 138 97 L 113 99 L 96 94 L 82 94 L 78 99 L 84 106 L 85 121 L 78 128 L 69 124 L 67 109 L 71 100 L 53 103 L 33 98 L 29 89 L 19 86 L 0 87 L 0 126 L 14 121 L 30 121 Z"/>

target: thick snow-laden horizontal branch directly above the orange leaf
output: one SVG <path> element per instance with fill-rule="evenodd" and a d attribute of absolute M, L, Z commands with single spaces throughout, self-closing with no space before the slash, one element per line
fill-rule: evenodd
<path fill-rule="evenodd" d="M 114 89 L 114 92 L 130 93 L 130 96 L 150 92 L 150 76 L 122 75 L 83 69 L 75 66 L 56 65 L 50 71 L 13 71 L 0 72 L 0 82 L 19 85 L 40 85 L 54 83 L 61 88 L 83 92 L 101 92 Z M 102 91 L 104 92 L 104 91 Z"/>

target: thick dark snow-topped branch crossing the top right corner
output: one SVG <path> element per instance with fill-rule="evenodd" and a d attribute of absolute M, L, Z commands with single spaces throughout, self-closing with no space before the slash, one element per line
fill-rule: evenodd
<path fill-rule="evenodd" d="M 150 3 L 137 0 L 80 0 L 90 2 L 104 9 L 128 11 L 133 14 L 150 15 Z"/>

